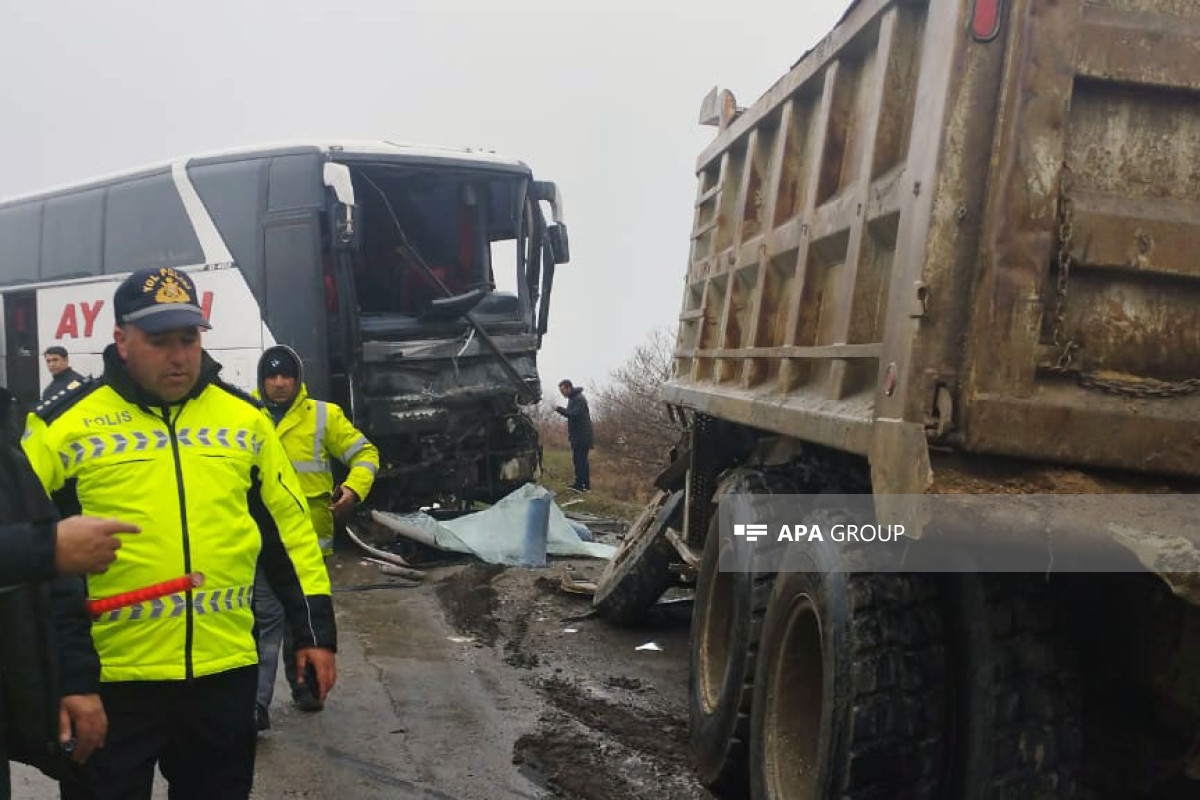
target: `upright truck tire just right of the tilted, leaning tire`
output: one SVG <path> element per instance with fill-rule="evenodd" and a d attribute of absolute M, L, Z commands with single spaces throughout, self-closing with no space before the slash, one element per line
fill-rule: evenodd
<path fill-rule="evenodd" d="M 796 491 L 786 479 L 756 470 L 734 473 L 724 483 L 731 493 Z M 722 537 L 719 528 L 719 519 L 713 515 L 696 578 L 688 685 L 689 730 L 692 762 L 701 781 L 720 794 L 744 795 L 758 631 L 775 576 L 751 572 L 748 565 L 752 546 L 744 540 Z M 727 567 L 731 563 L 746 566 L 722 572 L 722 557 Z"/>

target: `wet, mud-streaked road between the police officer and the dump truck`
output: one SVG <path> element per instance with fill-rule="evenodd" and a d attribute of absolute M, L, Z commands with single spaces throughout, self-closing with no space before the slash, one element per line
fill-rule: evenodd
<path fill-rule="evenodd" d="M 337 559 L 338 685 L 318 715 L 294 711 L 280 685 L 254 796 L 710 796 L 688 766 L 690 608 L 607 625 L 560 589 L 601 567 L 460 565 L 418 588 L 354 591 L 400 582 Z M 636 649 L 650 642 L 661 650 Z M 56 792 L 19 771 L 13 796 Z"/>

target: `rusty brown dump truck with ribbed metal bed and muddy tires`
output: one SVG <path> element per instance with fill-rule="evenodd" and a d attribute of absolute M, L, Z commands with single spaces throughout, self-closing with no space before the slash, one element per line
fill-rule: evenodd
<path fill-rule="evenodd" d="M 1104 573 L 860 572 L 829 548 L 737 570 L 719 510 L 1195 493 L 1200 4 L 858 0 L 757 102 L 714 90 L 701 121 L 662 390 L 686 434 L 594 601 L 637 620 L 691 565 L 701 777 L 1196 796 L 1194 542 L 1170 560 L 1148 535 Z"/>

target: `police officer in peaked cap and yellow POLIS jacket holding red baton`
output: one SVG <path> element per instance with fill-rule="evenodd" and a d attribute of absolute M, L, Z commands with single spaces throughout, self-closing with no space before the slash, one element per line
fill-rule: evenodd
<path fill-rule="evenodd" d="M 40 407 L 44 426 L 24 441 L 61 510 L 142 529 L 88 582 L 90 596 L 203 576 L 203 585 L 94 620 L 108 735 L 84 780 L 64 783 L 65 800 L 150 798 L 156 764 L 173 799 L 250 795 L 259 560 L 300 674 L 313 668 L 320 698 L 335 681 L 329 576 L 302 491 L 258 404 L 223 383 L 203 350 L 209 324 L 196 297 L 174 269 L 126 278 L 103 375 Z"/>

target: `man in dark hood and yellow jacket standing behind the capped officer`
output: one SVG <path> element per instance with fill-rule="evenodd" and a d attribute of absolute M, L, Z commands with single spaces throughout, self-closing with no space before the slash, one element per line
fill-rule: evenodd
<path fill-rule="evenodd" d="M 305 493 L 322 553 L 332 552 L 334 515 L 354 507 L 371 491 L 379 469 L 379 451 L 367 441 L 335 403 L 308 397 L 304 362 L 289 347 L 276 345 L 258 361 L 258 392 L 265 413 L 275 423 L 283 449 L 292 459 Z M 334 486 L 330 457 L 349 468 L 341 486 Z M 320 698 L 307 684 L 299 684 L 293 667 L 292 637 L 283 625 L 282 608 L 259 576 L 254 590 L 258 620 L 258 700 L 256 726 L 271 727 L 269 709 L 275 694 L 276 662 L 283 644 L 283 672 L 292 686 L 292 699 L 302 711 L 319 711 Z"/>

